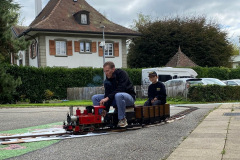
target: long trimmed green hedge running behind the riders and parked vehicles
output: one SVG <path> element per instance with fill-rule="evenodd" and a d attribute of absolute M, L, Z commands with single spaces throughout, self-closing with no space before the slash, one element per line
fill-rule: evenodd
<path fill-rule="evenodd" d="M 4 67 L 7 73 L 16 79 L 21 77 L 22 80 L 22 85 L 17 88 L 14 99 L 9 100 L 8 103 L 19 101 L 21 97 L 30 99 L 31 102 L 42 102 L 45 99 L 46 90 L 54 92 L 54 98 L 64 99 L 67 97 L 67 88 L 101 86 L 103 81 L 102 68 L 35 68 L 16 65 L 5 65 Z M 194 67 L 192 69 L 198 73 L 198 78 L 240 79 L 240 68 Z M 141 85 L 141 68 L 123 70 L 128 73 L 134 85 Z M 215 96 L 215 98 L 218 97 Z"/>

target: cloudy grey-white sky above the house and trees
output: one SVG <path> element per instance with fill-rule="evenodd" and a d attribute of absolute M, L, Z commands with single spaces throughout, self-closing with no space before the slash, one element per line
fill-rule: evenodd
<path fill-rule="evenodd" d="M 42 0 L 44 7 L 49 0 Z M 239 0 L 86 0 L 109 20 L 129 27 L 138 13 L 162 18 L 176 15 L 205 15 L 228 32 L 231 42 L 239 45 Z M 35 0 L 15 0 L 21 5 L 21 24 L 28 26 L 35 18 Z"/>

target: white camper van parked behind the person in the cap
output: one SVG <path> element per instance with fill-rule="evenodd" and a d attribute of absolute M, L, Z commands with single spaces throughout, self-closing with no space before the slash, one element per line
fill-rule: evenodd
<path fill-rule="evenodd" d="M 190 68 L 172 68 L 172 67 L 159 67 L 159 68 L 146 68 L 142 69 L 142 85 L 150 85 L 148 74 L 155 71 L 158 75 L 158 80 L 166 82 L 170 79 L 177 78 L 196 78 L 198 75 L 193 69 Z"/>

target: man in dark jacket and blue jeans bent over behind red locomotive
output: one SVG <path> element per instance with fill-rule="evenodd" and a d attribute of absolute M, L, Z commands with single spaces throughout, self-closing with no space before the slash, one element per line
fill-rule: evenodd
<path fill-rule="evenodd" d="M 125 118 L 126 106 L 132 106 L 135 102 L 136 93 L 133 88 L 128 74 L 122 69 L 115 69 L 113 62 L 106 62 L 103 65 L 103 71 L 106 75 L 104 81 L 105 94 L 97 94 L 92 97 L 93 105 L 106 106 L 102 111 L 105 116 L 110 106 L 117 106 L 118 126 L 126 127 L 127 119 Z"/>

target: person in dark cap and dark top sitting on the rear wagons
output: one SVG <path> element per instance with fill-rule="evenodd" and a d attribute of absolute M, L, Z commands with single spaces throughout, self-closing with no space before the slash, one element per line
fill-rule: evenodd
<path fill-rule="evenodd" d="M 152 84 L 148 87 L 148 100 L 144 103 L 144 106 L 165 104 L 167 94 L 164 84 L 158 81 L 155 71 L 149 72 L 148 77 Z"/>

